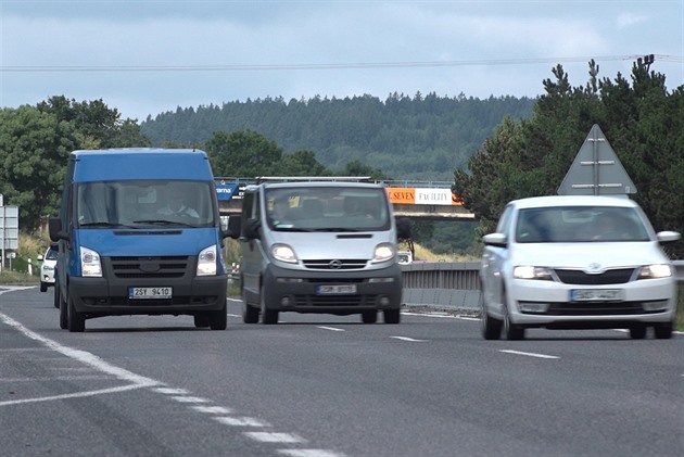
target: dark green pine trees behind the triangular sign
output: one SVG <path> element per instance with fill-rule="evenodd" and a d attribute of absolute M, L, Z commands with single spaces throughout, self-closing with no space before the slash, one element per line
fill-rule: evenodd
<path fill-rule="evenodd" d="M 590 81 L 572 88 L 558 65 L 556 80 L 529 120 L 506 118 L 494 137 L 454 172 L 453 191 L 491 231 L 512 199 L 555 194 L 592 125 L 598 124 L 634 181 L 633 195 L 657 230 L 684 232 L 684 87 L 672 92 L 663 75 L 635 63 L 632 85 L 620 74 L 598 79 L 590 62 Z M 684 257 L 683 243 L 670 252 Z"/>

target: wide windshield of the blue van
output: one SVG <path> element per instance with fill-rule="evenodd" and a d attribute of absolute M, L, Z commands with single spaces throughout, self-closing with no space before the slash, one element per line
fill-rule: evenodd
<path fill-rule="evenodd" d="M 76 214 L 80 227 L 210 227 L 212 186 L 205 181 L 98 181 L 79 183 Z"/>

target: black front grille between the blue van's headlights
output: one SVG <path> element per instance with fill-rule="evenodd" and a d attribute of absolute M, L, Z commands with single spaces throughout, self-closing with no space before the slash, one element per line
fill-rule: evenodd
<path fill-rule="evenodd" d="M 107 257 L 104 261 L 117 278 L 182 278 L 190 257 Z"/>

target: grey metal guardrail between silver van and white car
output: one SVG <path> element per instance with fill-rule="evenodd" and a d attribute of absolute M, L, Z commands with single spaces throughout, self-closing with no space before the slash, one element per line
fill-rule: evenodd
<path fill-rule="evenodd" d="M 684 261 L 674 261 L 673 265 L 677 282 L 684 288 Z M 479 269 L 480 262 L 402 265 L 403 302 L 408 306 L 474 310 L 480 300 Z"/>

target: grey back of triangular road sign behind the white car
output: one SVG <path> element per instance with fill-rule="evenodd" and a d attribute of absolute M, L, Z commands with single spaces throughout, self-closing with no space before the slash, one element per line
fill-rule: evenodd
<path fill-rule="evenodd" d="M 558 188 L 559 195 L 625 195 L 636 187 L 596 124 Z"/>

